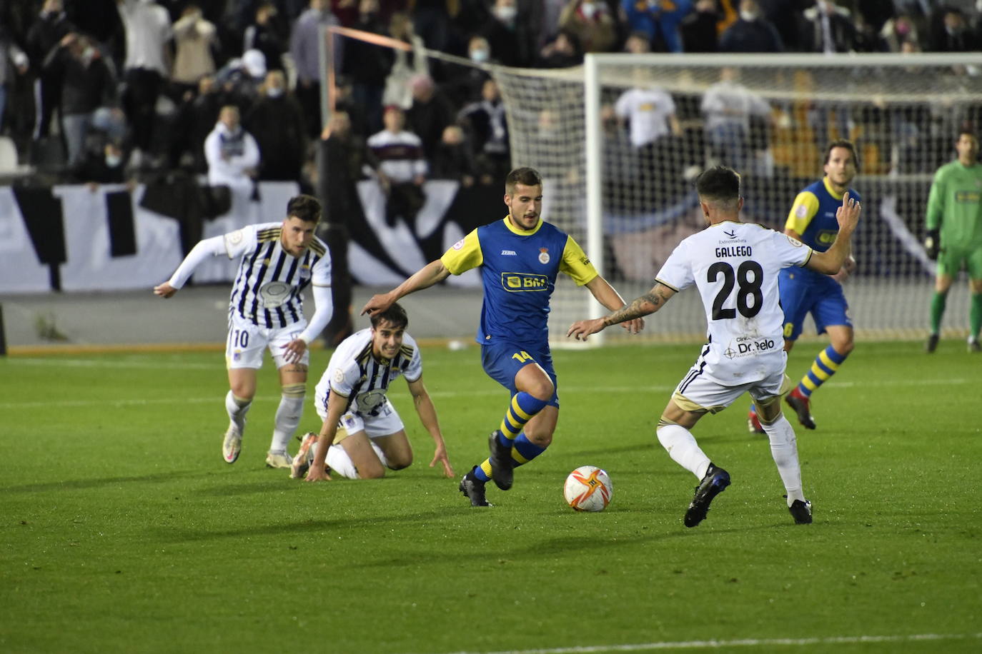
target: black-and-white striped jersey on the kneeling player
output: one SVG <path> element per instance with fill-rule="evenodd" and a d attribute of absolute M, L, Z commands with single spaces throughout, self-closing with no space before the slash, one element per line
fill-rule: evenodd
<path fill-rule="evenodd" d="M 386 391 L 400 375 L 415 381 L 423 374 L 423 363 L 416 341 L 403 334 L 403 347 L 391 361 L 378 360 L 371 352 L 371 328 L 361 329 L 341 341 L 331 355 L 327 370 L 317 382 L 317 406 L 327 411 L 330 393 L 348 398 L 348 409 L 362 416 L 374 416 L 385 405 Z M 346 411 L 346 413 L 347 413 Z"/>

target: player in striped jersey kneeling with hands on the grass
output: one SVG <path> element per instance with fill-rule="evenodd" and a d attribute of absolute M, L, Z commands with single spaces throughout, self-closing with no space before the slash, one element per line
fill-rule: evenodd
<path fill-rule="evenodd" d="M 419 422 L 430 432 L 443 473 L 454 477 L 436 409 L 423 385 L 422 359 L 416 341 L 406 333 L 409 318 L 398 304 L 372 314 L 371 327 L 338 345 L 317 383 L 320 433 L 303 437 L 290 476 L 307 481 L 330 479 L 325 466 L 350 479 L 373 479 L 385 469 L 402 470 L 412 463 L 406 429 L 386 392 L 400 375 L 406 377 Z"/>

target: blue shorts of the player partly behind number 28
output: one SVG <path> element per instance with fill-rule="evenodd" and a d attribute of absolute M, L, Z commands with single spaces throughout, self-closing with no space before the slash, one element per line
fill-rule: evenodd
<path fill-rule="evenodd" d="M 804 317 L 809 313 L 815 321 L 816 333 L 826 327 L 852 327 L 849 306 L 843 285 L 828 275 L 786 268 L 779 277 L 781 308 L 785 312 L 785 338 L 796 340 L 801 335 Z"/>

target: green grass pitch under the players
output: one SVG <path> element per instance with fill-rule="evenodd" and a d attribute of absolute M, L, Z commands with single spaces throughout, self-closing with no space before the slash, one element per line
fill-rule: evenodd
<path fill-rule="evenodd" d="M 799 343 L 791 377 L 823 346 Z M 398 381 L 413 466 L 320 484 L 263 466 L 268 361 L 229 466 L 220 353 L 0 359 L 0 651 L 982 650 L 982 358 L 860 342 L 815 395 L 818 429 L 791 416 L 811 526 L 747 403 L 704 418 L 733 485 L 687 529 L 696 479 L 654 428 L 697 347 L 557 351 L 554 443 L 489 485 L 491 509 L 457 488 L 507 400 L 475 347 L 423 352 L 457 479 L 427 466 Z M 585 464 L 613 479 L 603 513 L 563 502 Z"/>

